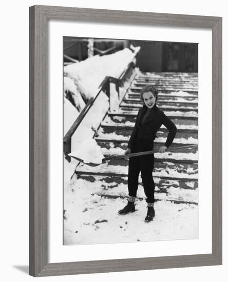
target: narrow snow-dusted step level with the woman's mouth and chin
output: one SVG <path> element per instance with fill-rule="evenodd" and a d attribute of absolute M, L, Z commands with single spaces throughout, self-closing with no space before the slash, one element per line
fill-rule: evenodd
<path fill-rule="evenodd" d="M 138 104 L 140 103 L 142 105 L 142 102 L 139 98 L 124 98 L 123 102 L 125 104 Z M 183 99 L 178 99 L 178 100 L 157 100 L 156 104 L 158 105 L 158 107 L 160 107 L 161 105 L 164 106 L 177 106 L 177 107 L 198 107 L 198 101 L 194 100 L 194 101 L 184 101 Z"/>

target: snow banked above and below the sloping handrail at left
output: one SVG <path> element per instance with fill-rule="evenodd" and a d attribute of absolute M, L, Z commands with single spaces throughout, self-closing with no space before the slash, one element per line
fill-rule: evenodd
<path fill-rule="evenodd" d="M 139 48 L 135 47 L 135 52 L 138 52 Z M 81 110 L 83 104 L 82 98 L 79 98 L 79 93 L 86 100 L 94 97 L 100 91 L 100 84 L 103 79 L 109 75 L 119 77 L 134 58 L 135 52 L 125 48 L 110 55 L 89 57 L 85 61 L 64 67 L 64 75 L 67 76 L 64 77 L 64 90 L 71 92 L 75 104 Z M 120 96 L 123 96 L 123 93 L 125 93 L 131 78 L 120 88 Z M 73 114 L 71 118 L 68 118 L 72 112 L 72 109 L 68 112 L 68 108 L 69 106 L 66 109 L 64 108 L 64 121 L 66 120 L 66 123 L 64 122 L 64 134 L 68 131 L 70 122 L 72 125 L 78 116 Z M 71 137 L 71 152 L 78 151 L 84 140 L 93 138 L 108 109 L 109 98 L 101 91 Z M 72 158 L 71 161 L 75 165 L 78 164 Z"/>

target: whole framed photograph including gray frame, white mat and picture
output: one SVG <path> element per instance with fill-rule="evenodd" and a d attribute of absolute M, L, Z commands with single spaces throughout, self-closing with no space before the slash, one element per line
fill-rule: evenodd
<path fill-rule="evenodd" d="M 32 276 L 222 264 L 222 18 L 30 7 Z"/>

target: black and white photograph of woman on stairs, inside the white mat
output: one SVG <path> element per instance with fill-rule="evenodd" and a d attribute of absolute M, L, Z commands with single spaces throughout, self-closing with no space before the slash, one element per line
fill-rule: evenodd
<path fill-rule="evenodd" d="M 63 244 L 197 239 L 198 44 L 63 37 Z"/>

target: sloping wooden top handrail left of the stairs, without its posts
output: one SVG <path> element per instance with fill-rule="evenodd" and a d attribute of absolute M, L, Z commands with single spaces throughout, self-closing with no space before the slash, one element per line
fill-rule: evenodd
<path fill-rule="evenodd" d="M 138 51 L 135 52 L 134 57 L 132 57 L 132 59 L 134 59 L 137 55 Z M 74 132 L 77 130 L 77 128 L 79 127 L 79 125 L 81 124 L 83 118 L 85 117 L 85 115 L 87 114 L 87 112 L 89 111 L 89 109 L 92 107 L 94 101 L 97 99 L 97 97 L 99 96 L 99 94 L 103 91 L 103 89 L 106 88 L 107 83 L 109 83 L 109 80 L 116 80 L 117 82 L 120 82 L 120 80 L 123 79 L 124 75 L 127 73 L 127 70 L 130 68 L 130 66 L 132 65 L 132 61 L 127 65 L 127 68 L 120 74 L 119 78 L 116 77 L 111 77 L 111 76 L 106 76 L 103 80 L 102 83 L 100 84 L 100 90 L 98 91 L 97 95 L 94 97 L 91 97 L 85 108 L 81 111 L 81 113 L 79 114 L 79 116 L 77 117 L 77 119 L 75 119 L 74 123 L 72 124 L 72 126 L 70 127 L 70 129 L 67 131 L 66 135 L 63 138 L 63 143 L 64 145 L 67 144 L 70 140 L 70 138 L 72 137 L 72 135 L 74 134 Z"/>

